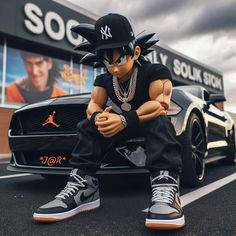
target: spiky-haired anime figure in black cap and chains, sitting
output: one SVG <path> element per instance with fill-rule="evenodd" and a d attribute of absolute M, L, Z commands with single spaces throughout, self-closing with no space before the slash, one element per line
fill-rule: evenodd
<path fill-rule="evenodd" d="M 185 225 L 179 199 L 181 145 L 166 110 L 170 105 L 172 76 L 162 64 L 145 55 L 157 40 L 154 34 L 135 37 L 126 17 L 108 14 L 95 26 L 79 24 L 73 31 L 87 39 L 76 48 L 87 54 L 83 64 L 105 67 L 96 77 L 87 118 L 77 124 L 78 142 L 72 152 L 73 168 L 66 187 L 34 213 L 35 221 L 59 221 L 100 206 L 96 171 L 114 142 L 145 138 L 145 166 L 150 171 L 152 198 L 145 219 L 150 229 L 178 229 Z M 111 99 L 120 108 L 106 107 Z"/>

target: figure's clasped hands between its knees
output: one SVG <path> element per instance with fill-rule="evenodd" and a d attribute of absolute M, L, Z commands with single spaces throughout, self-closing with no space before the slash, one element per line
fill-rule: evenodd
<path fill-rule="evenodd" d="M 119 115 L 110 113 L 111 107 L 106 108 L 96 119 L 98 131 L 106 138 L 110 138 L 124 129 Z"/>

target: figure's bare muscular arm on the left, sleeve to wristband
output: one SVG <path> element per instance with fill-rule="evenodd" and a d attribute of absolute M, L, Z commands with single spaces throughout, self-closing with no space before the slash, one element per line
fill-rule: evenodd
<path fill-rule="evenodd" d="M 94 87 L 87 107 L 87 118 L 90 119 L 94 112 L 103 112 L 103 105 L 106 104 L 106 101 L 106 90 L 103 87 Z"/>

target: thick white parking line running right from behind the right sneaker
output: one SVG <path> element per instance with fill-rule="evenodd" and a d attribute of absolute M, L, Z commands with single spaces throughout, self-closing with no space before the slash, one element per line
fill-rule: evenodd
<path fill-rule="evenodd" d="M 180 197 L 182 207 L 187 206 L 188 204 L 198 200 L 199 198 L 223 187 L 226 184 L 236 180 L 236 173 L 231 174 L 223 179 L 217 180 L 211 184 L 208 184 L 204 187 L 201 187 L 197 190 L 194 190 L 190 193 L 186 193 Z M 148 212 L 148 208 L 142 210 L 142 212 Z"/>

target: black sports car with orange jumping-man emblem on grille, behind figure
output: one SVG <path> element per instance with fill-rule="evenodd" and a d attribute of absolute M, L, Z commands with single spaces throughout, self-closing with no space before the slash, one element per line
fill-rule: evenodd
<path fill-rule="evenodd" d="M 9 128 L 12 150 L 8 170 L 41 174 L 68 174 L 68 160 L 77 142 L 76 125 L 86 118 L 90 94 L 45 100 L 17 110 Z M 205 163 L 219 161 L 234 164 L 234 122 L 214 103 L 225 101 L 224 95 L 209 95 L 200 86 L 173 89 L 168 117 L 183 146 L 182 182 L 196 186 L 204 180 Z M 119 108 L 108 101 L 115 112 Z M 99 172 L 147 172 L 145 140 L 137 137 L 112 146 L 104 156 Z"/>

